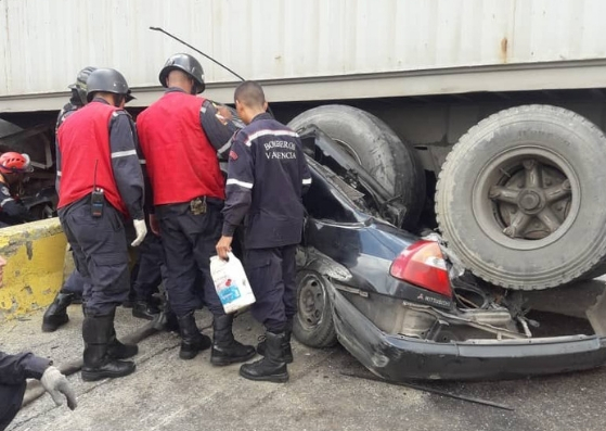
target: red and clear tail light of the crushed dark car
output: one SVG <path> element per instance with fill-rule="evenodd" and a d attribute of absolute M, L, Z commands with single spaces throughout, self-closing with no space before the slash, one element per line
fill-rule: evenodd
<path fill-rule="evenodd" d="M 391 263 L 389 274 L 411 284 L 452 297 L 450 279 L 440 245 L 421 240 L 409 245 Z"/>

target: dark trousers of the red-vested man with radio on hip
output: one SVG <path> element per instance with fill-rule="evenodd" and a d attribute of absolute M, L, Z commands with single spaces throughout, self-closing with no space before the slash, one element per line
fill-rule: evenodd
<path fill-rule="evenodd" d="M 82 301 L 90 316 L 106 316 L 126 301 L 129 290 L 128 251 L 123 215 L 105 204 L 103 215 L 91 215 L 85 198 L 59 211 L 72 245 L 76 268 L 85 280 Z"/>

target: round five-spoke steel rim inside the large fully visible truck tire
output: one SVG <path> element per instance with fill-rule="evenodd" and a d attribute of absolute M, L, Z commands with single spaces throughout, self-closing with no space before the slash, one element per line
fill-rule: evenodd
<path fill-rule="evenodd" d="M 473 216 L 499 245 L 537 250 L 557 241 L 579 215 L 580 181 L 570 164 L 526 144 L 494 155 L 472 190 Z"/>

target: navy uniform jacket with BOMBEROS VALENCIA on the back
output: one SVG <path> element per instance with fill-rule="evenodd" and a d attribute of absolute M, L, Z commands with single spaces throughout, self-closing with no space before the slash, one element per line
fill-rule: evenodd
<path fill-rule="evenodd" d="M 223 236 L 244 219 L 244 246 L 267 249 L 301 240 L 301 197 L 311 176 L 296 132 L 257 115 L 233 138 L 229 154 Z"/>

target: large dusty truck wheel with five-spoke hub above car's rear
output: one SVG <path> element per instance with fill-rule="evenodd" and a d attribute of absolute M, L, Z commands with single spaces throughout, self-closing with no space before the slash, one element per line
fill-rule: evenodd
<path fill-rule="evenodd" d="M 436 192 L 448 246 L 476 276 L 538 290 L 604 271 L 606 137 L 582 116 L 526 105 L 481 121 Z"/>

